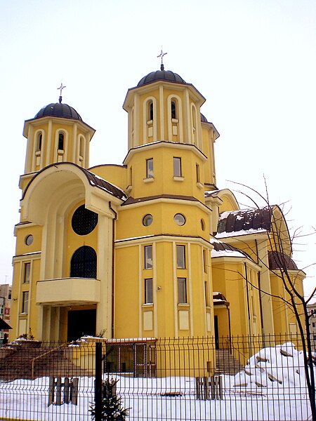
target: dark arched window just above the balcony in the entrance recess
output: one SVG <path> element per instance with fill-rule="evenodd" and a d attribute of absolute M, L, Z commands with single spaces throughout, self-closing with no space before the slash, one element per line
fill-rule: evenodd
<path fill-rule="evenodd" d="M 72 260 L 70 262 L 70 277 L 96 279 L 96 272 L 96 251 L 89 246 L 78 248 L 72 255 Z"/>

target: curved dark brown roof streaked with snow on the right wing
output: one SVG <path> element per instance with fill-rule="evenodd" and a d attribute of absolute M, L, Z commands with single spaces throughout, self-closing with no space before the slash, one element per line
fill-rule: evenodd
<path fill-rule="evenodd" d="M 216 237 L 236 236 L 270 231 L 272 208 L 234 210 L 223 212 L 218 220 Z"/>

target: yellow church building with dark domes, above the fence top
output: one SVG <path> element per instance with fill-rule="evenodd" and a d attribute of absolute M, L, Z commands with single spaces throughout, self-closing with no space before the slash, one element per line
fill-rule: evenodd
<path fill-rule="evenodd" d="M 140 79 L 124 101 L 121 166 L 89 168 L 95 131 L 61 98 L 25 121 L 11 339 L 102 333 L 217 338 L 224 347 L 223 336 L 296 331 L 269 296 L 286 297 L 269 268 L 269 253 L 278 250 L 269 236 L 273 212 L 303 288 L 286 222 L 277 207 L 268 216 L 240 210 L 230 190 L 218 189 L 219 134 L 201 114 L 204 101 L 163 66 Z"/>

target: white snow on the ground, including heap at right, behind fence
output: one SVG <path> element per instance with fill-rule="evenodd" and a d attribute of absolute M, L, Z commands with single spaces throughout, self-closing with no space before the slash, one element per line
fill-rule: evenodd
<path fill-rule="evenodd" d="M 130 408 L 128 420 L 308 420 L 310 416 L 303 352 L 291 343 L 261 349 L 244 371 L 223 375 L 222 400 L 195 399 L 192 377 L 115 377 L 122 404 Z M 79 378 L 77 406 L 48 407 L 48 377 L 1 382 L 0 417 L 91 420 L 93 384 L 93 377 Z"/>

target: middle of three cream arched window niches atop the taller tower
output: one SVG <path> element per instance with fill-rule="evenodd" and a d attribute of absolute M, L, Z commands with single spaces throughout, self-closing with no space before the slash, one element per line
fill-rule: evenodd
<path fill-rule="evenodd" d="M 182 100 L 171 94 L 167 98 L 169 142 L 183 142 Z"/>

